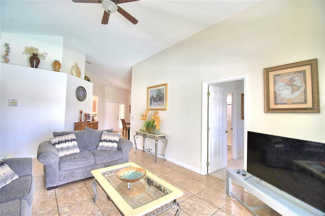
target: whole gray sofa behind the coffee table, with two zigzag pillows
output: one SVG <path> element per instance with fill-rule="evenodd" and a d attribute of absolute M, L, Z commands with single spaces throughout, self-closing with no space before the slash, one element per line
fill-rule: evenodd
<path fill-rule="evenodd" d="M 86 127 L 86 130 L 53 132 L 53 136 L 74 133 L 79 153 L 59 157 L 57 149 L 50 141 L 39 145 L 37 159 L 44 164 L 45 187 L 47 190 L 59 185 L 91 177 L 91 170 L 128 162 L 129 151 L 133 143 L 120 138 L 117 151 L 97 150 L 103 131 Z"/>

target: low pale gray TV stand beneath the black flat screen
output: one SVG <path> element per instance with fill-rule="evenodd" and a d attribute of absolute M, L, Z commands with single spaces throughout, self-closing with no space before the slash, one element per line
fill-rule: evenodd
<path fill-rule="evenodd" d="M 229 196 L 234 196 L 236 199 L 238 198 L 232 194 L 232 180 L 281 215 L 325 215 L 324 212 L 260 180 L 248 172 L 244 176 L 241 173 L 237 173 L 237 169 L 227 169 L 226 193 Z M 239 201 L 241 202 L 241 200 Z M 249 206 L 246 207 L 249 208 Z M 249 210 L 254 212 L 252 208 Z"/>

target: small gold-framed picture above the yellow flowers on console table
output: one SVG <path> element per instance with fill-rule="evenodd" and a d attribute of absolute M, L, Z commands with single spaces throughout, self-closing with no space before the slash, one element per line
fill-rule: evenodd
<path fill-rule="evenodd" d="M 147 109 L 167 110 L 167 83 L 147 88 Z"/>

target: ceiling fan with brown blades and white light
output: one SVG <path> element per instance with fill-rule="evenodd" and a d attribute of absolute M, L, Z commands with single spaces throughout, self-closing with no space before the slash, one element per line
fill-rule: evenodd
<path fill-rule="evenodd" d="M 102 19 L 102 24 L 107 25 L 108 20 L 110 18 L 110 14 L 114 12 L 120 13 L 126 19 L 128 19 L 133 24 L 137 24 L 138 20 L 131 16 L 131 14 L 124 11 L 121 7 L 117 6 L 117 4 L 135 2 L 140 0 L 72 0 L 74 3 L 101 3 L 104 8 L 104 15 Z"/>

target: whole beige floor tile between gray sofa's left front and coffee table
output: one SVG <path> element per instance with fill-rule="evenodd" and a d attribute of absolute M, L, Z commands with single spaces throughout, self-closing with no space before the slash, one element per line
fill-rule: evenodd
<path fill-rule="evenodd" d="M 57 205 L 59 208 L 68 206 L 83 200 L 92 199 L 86 187 L 77 188 L 56 194 Z"/>

